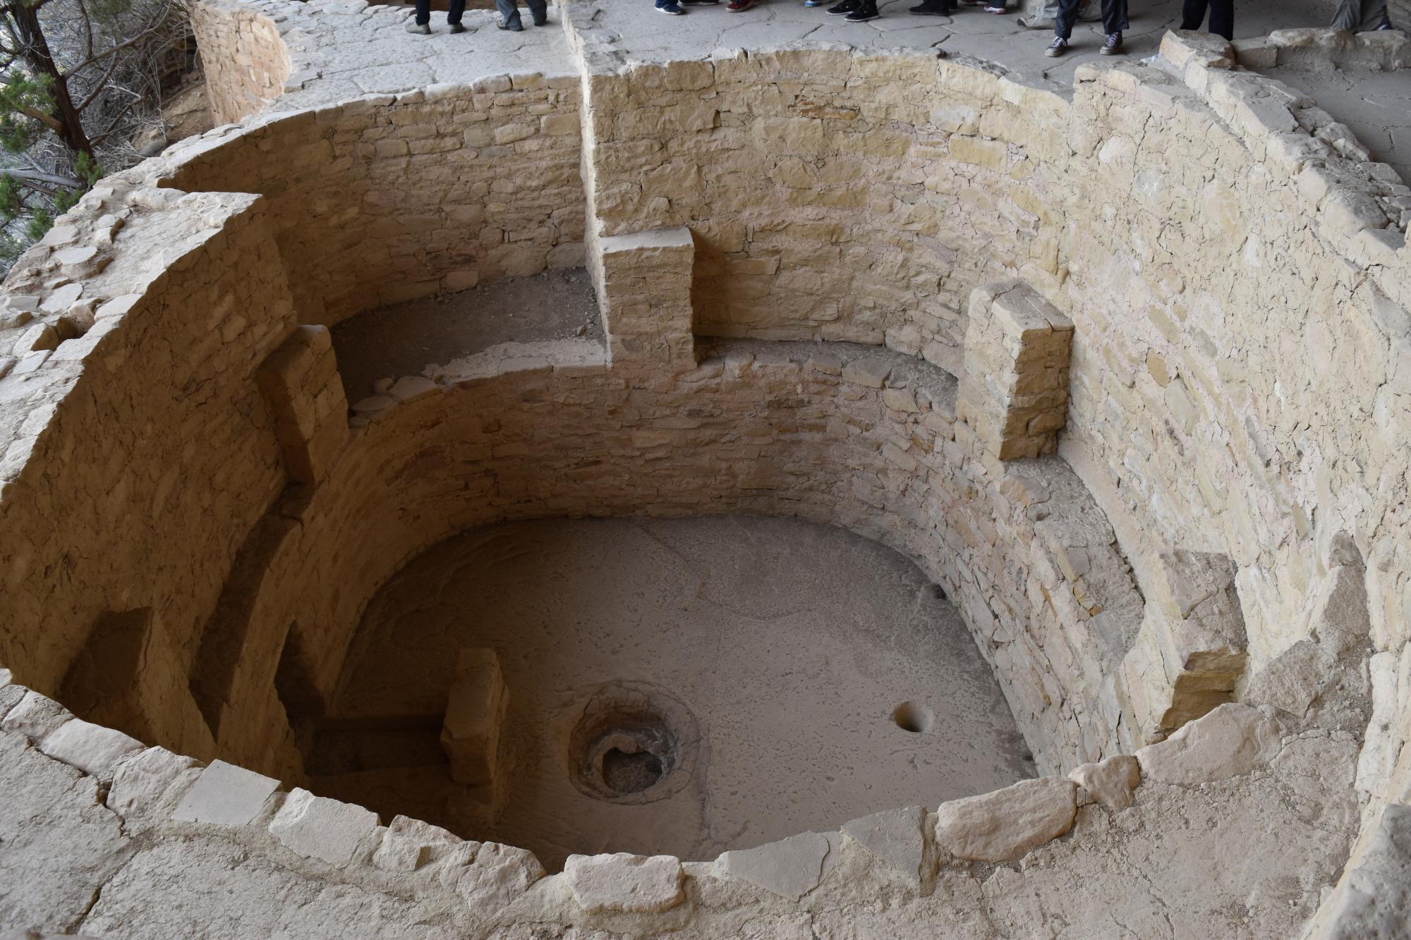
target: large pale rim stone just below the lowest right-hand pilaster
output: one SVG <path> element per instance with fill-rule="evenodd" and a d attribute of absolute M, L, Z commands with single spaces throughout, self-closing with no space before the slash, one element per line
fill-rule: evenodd
<path fill-rule="evenodd" d="M 1259 709 L 1230 701 L 1134 757 L 1143 779 L 1195 786 L 1249 773 L 1281 748 L 1278 723 Z"/>

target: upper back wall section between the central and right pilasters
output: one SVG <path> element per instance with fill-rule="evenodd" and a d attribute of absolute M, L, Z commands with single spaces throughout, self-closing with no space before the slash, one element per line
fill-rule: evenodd
<path fill-rule="evenodd" d="M 975 285 L 1057 284 L 1057 96 L 902 51 L 626 65 L 567 13 L 600 234 L 691 229 L 697 333 L 886 343 L 955 371 Z"/>

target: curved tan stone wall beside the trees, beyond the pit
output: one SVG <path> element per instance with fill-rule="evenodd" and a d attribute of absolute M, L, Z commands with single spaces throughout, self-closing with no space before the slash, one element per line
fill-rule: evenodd
<path fill-rule="evenodd" d="M 223 0 L 193 3 L 189 10 L 217 124 L 248 117 L 279 97 L 293 66 L 272 18 Z"/>

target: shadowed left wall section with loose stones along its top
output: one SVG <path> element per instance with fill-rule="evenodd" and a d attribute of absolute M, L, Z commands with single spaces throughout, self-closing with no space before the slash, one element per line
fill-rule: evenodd
<path fill-rule="evenodd" d="M 107 680 L 135 689 L 140 733 L 210 755 L 198 631 L 285 483 L 253 377 L 293 325 L 262 200 L 104 181 L 7 288 L 0 343 L 35 351 L 0 360 L 0 656 L 58 690 L 150 611 Z"/>

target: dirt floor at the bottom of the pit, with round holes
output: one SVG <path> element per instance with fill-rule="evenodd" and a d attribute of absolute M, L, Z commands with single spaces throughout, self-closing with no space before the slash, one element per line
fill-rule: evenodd
<path fill-rule="evenodd" d="M 484 646 L 508 689 L 498 793 L 452 782 L 439 745 L 457 652 Z M 680 747 L 665 762 L 601 754 L 608 789 L 628 792 L 604 799 L 580 785 L 574 728 L 622 690 Z M 316 792 L 550 868 L 570 852 L 708 860 L 1034 773 L 969 631 L 916 565 L 755 517 L 547 519 L 435 546 L 368 605 L 315 741 Z"/>

